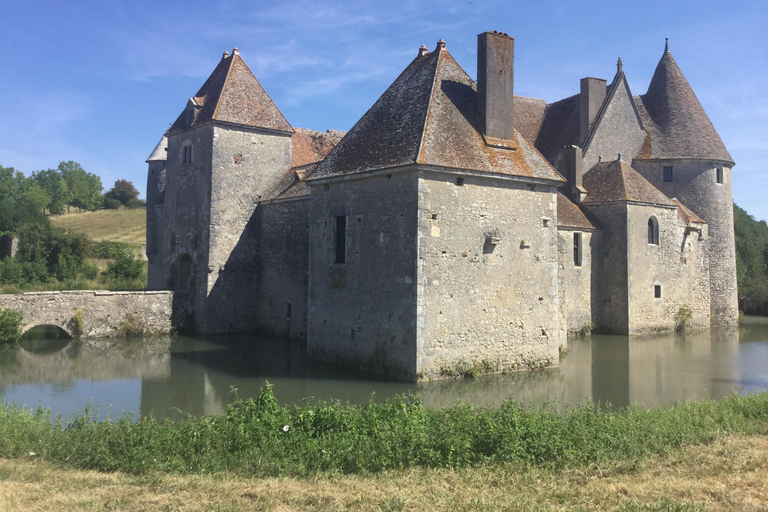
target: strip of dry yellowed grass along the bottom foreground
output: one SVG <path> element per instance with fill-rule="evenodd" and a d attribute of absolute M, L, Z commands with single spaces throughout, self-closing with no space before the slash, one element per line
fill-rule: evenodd
<path fill-rule="evenodd" d="M 369 476 L 131 476 L 0 460 L 0 508 L 41 510 L 768 510 L 768 438 L 730 437 L 570 472 L 487 467 Z"/>

